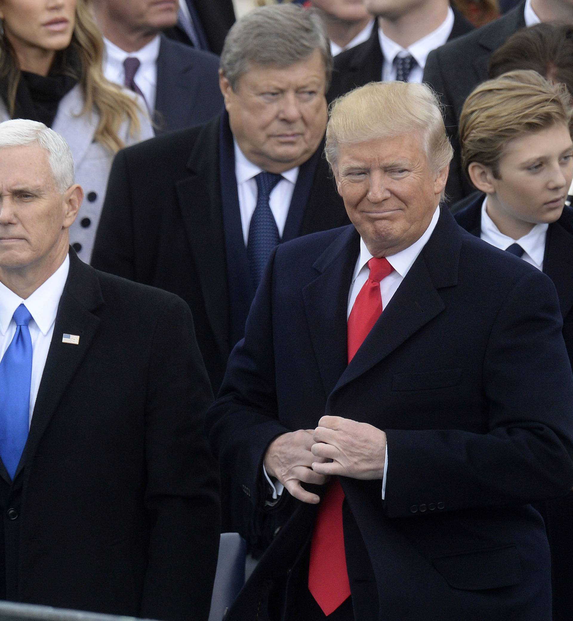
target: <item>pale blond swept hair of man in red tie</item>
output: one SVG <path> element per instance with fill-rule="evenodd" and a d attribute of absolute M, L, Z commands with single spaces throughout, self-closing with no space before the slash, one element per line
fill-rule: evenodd
<path fill-rule="evenodd" d="M 436 172 L 449 165 L 453 150 L 441 106 L 426 84 L 371 82 L 330 105 L 325 154 L 334 171 L 341 144 L 417 133 Z"/>

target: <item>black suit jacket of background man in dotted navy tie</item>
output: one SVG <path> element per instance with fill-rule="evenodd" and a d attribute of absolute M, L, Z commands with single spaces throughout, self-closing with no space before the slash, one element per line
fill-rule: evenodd
<path fill-rule="evenodd" d="M 456 39 L 474 29 L 474 27 L 462 17 L 461 13 L 454 11 L 454 25 L 448 37 L 448 41 Z M 380 48 L 378 37 L 378 25 L 374 22 L 372 34 L 368 41 L 356 45 L 345 52 L 341 52 L 334 59 L 332 82 L 328 89 L 327 99 L 333 101 L 336 97 L 348 93 L 358 86 L 364 86 L 369 82 L 379 82 L 382 78 L 382 65 L 384 56 Z"/>

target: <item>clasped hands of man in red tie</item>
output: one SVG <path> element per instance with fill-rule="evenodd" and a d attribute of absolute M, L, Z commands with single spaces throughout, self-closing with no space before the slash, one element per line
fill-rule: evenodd
<path fill-rule="evenodd" d="M 351 479 L 382 479 L 386 433 L 368 423 L 323 416 L 318 427 L 279 435 L 264 456 L 269 476 L 278 479 L 291 496 L 320 502 L 301 483 L 323 485 L 332 475 Z"/>

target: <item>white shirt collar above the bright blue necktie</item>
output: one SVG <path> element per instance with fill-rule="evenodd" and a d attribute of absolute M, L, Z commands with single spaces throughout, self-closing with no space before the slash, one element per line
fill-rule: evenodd
<path fill-rule="evenodd" d="M 40 332 L 46 336 L 56 320 L 58 304 L 60 304 L 60 297 L 69 271 L 70 256 L 66 255 L 60 267 L 27 299 L 17 296 L 14 291 L 0 283 L 0 332 L 2 335 L 6 334 L 14 311 L 20 304 L 25 304 Z"/>

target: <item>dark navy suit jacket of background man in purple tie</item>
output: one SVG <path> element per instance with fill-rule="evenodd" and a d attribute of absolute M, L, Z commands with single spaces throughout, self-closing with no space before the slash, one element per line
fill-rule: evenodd
<path fill-rule="evenodd" d="M 161 35 L 157 58 L 156 135 L 220 114 L 219 58 Z"/>

